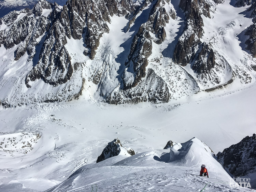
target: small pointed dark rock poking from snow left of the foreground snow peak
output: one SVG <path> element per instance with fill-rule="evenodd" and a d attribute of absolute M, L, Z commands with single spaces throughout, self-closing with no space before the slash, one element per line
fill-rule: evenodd
<path fill-rule="evenodd" d="M 109 142 L 108 145 L 103 149 L 101 155 L 98 157 L 96 163 L 103 161 L 105 159 L 118 156 L 121 152 L 121 148 L 126 150 L 128 154 L 134 155 L 135 152 L 131 148 L 124 148 L 118 138 L 114 139 L 112 142 Z"/>

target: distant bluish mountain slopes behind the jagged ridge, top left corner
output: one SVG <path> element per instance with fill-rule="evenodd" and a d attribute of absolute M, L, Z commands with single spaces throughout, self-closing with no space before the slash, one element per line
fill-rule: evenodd
<path fill-rule="evenodd" d="M 11 11 L 20 11 L 25 8 L 32 9 L 39 0 L 0 0 L 0 17 L 10 13 Z M 48 0 L 51 3 L 64 5 L 66 0 Z"/>

